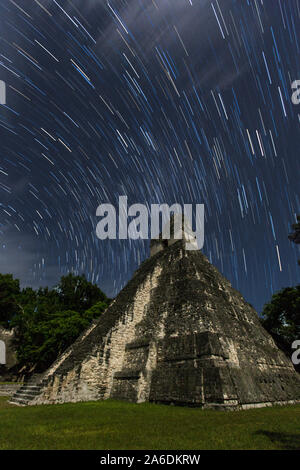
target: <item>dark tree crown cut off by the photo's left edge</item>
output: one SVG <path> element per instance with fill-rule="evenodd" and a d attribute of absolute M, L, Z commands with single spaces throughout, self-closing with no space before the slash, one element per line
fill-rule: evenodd
<path fill-rule="evenodd" d="M 12 274 L 0 274 L 0 325 L 11 327 L 13 317 L 19 312 L 20 283 Z"/>

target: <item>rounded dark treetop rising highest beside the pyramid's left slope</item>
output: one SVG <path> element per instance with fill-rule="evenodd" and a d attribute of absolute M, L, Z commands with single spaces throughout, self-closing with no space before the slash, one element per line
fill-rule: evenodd
<path fill-rule="evenodd" d="M 74 276 L 70 273 L 63 276 L 55 290 L 63 310 L 83 313 L 96 302 L 108 300 L 99 287 L 87 281 L 84 275 Z"/>

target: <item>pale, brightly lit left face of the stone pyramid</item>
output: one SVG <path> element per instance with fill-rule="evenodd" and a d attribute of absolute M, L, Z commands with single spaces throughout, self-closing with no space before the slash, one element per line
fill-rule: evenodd
<path fill-rule="evenodd" d="M 113 303 L 101 322 L 66 351 L 45 375 L 43 395 L 35 403 L 109 398 L 113 375 L 122 367 L 126 344 L 135 337 L 135 326 L 145 314 L 160 270 L 153 266 L 141 283 L 132 286 L 133 297 L 123 292 L 120 310 L 114 311 Z"/>

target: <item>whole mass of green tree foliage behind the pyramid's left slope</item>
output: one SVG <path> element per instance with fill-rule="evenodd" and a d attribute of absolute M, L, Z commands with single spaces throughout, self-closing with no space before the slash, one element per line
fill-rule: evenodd
<path fill-rule="evenodd" d="M 107 308 L 109 299 L 84 276 L 63 276 L 53 289 L 18 294 L 15 328 L 19 368 L 42 372 Z"/>

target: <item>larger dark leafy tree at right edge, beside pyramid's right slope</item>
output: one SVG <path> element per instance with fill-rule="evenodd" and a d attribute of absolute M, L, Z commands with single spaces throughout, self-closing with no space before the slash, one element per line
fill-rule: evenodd
<path fill-rule="evenodd" d="M 264 307 L 261 323 L 277 346 L 291 357 L 291 346 L 300 339 L 300 285 L 274 294 Z M 295 368 L 300 372 L 299 366 Z"/>

